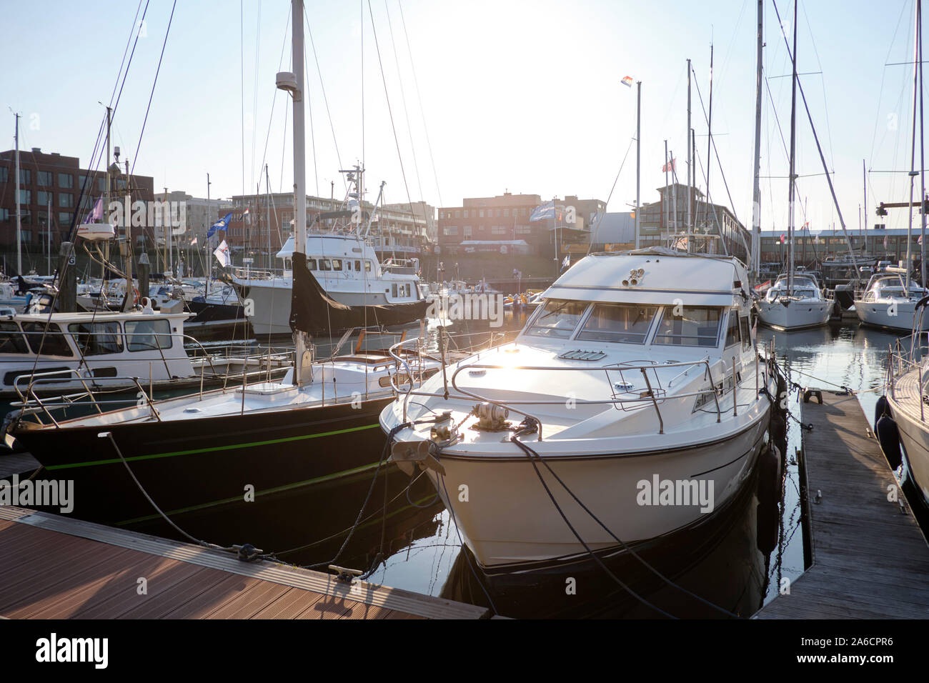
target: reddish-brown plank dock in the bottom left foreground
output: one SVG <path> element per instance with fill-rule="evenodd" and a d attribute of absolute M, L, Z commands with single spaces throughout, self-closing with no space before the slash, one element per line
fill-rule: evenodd
<path fill-rule="evenodd" d="M 480 619 L 488 610 L 0 507 L 0 618 Z M 143 581 L 144 580 L 144 581 Z M 141 586 L 145 590 L 143 591 Z"/>

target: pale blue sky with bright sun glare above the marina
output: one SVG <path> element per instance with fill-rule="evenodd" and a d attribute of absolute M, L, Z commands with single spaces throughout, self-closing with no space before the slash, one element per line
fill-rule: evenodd
<path fill-rule="evenodd" d="M 873 211 L 878 202 L 909 198 L 913 2 L 799 4 L 800 82 L 850 230 L 864 202 L 863 162 L 868 225 L 882 220 Z M 0 0 L 14 56 L 0 72 L 4 149 L 13 148 L 12 112 L 20 112 L 20 148 L 79 156 L 86 166 L 104 105 L 122 83 L 124 54 L 134 49 L 112 141 L 136 173 L 154 177 L 156 190 L 198 197 L 207 194 L 209 174 L 210 196 L 225 198 L 254 193 L 259 181 L 264 191 L 267 164 L 271 191 L 291 191 L 293 112 L 275 88 L 275 73 L 291 69 L 290 5 Z M 705 190 L 700 97 L 708 106 L 712 44 L 710 191 L 750 224 L 757 7 L 756 0 L 307 0 L 307 192 L 344 196 L 339 169 L 363 160 L 369 201 L 385 181 L 387 203 L 460 206 L 464 197 L 511 191 L 629 210 L 635 85 L 622 78 L 632 76 L 642 82 L 642 201 L 655 201 L 665 140 L 686 177 L 688 58 L 697 184 Z M 765 0 L 761 216 L 764 230 L 784 231 L 791 62 L 774 7 Z M 777 7 L 791 34 L 792 3 Z M 838 228 L 799 93 L 796 129 L 796 224 Z M 896 211 L 883 220 L 905 228 L 907 219 Z"/>

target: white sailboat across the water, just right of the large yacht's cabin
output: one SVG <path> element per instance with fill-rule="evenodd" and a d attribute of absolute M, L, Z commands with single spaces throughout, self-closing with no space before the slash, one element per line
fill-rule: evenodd
<path fill-rule="evenodd" d="M 829 322 L 833 302 L 822 294 L 812 273 L 779 275 L 765 298 L 755 304 L 758 318 L 769 327 L 800 330 Z"/>

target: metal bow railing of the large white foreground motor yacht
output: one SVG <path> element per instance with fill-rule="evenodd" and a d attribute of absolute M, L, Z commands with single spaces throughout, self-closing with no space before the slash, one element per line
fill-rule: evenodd
<path fill-rule="evenodd" d="M 417 340 L 416 339 L 407 340 L 406 342 L 399 342 L 398 344 L 391 347 L 391 355 L 393 355 L 394 358 L 399 361 L 399 363 L 403 364 L 406 367 L 407 374 L 409 376 L 413 376 L 412 370 L 409 364 L 407 364 L 405 360 L 401 359 L 399 355 L 395 353 L 395 350 L 399 349 L 403 344 L 408 344 L 408 343 L 415 342 L 415 341 Z M 506 370 L 506 371 L 530 371 L 530 372 L 582 372 L 586 374 L 602 372 L 604 373 L 604 377 L 607 381 L 607 385 L 609 387 L 609 393 L 611 395 L 611 398 L 596 399 L 596 400 L 571 400 L 571 402 L 574 405 L 608 405 L 608 404 L 611 404 L 619 410 L 635 410 L 637 407 L 636 404 L 650 403 L 651 406 L 654 408 L 655 414 L 658 418 L 658 424 L 659 424 L 658 433 L 663 434 L 664 433 L 664 419 L 661 416 L 660 405 L 667 398 L 667 389 L 661 386 L 661 377 L 659 376 L 657 370 L 659 368 L 674 368 L 674 367 L 681 367 L 681 368 L 702 367 L 704 371 L 703 376 L 704 378 L 709 379 L 710 385 L 709 387 L 702 388 L 698 391 L 692 391 L 692 392 L 687 392 L 687 393 L 676 393 L 674 394 L 672 398 L 674 400 L 678 400 L 678 399 L 686 399 L 686 398 L 692 398 L 692 397 L 712 395 L 714 405 L 716 408 L 716 422 L 718 423 L 718 422 L 721 422 L 722 420 L 723 413 L 720 407 L 719 397 L 721 394 L 726 392 L 726 378 L 724 376 L 722 386 L 717 385 L 713 379 L 713 367 L 718 366 L 718 364 L 723 361 L 715 361 L 711 365 L 709 358 L 704 358 L 704 359 L 700 359 L 699 361 L 675 361 L 675 362 L 667 362 L 667 363 L 662 363 L 662 364 L 646 362 L 646 363 L 640 363 L 640 364 L 615 363 L 611 365 L 603 365 L 603 366 L 598 366 L 598 367 L 573 367 L 573 366 L 569 367 L 569 366 L 506 365 L 502 363 L 481 363 L 481 362 L 478 362 L 479 358 L 476 358 L 475 356 L 469 357 L 468 360 L 469 361 L 474 360 L 475 362 L 459 364 L 459 366 L 451 374 L 451 381 L 449 381 L 448 378 L 444 380 L 444 390 L 442 391 L 442 393 L 423 391 L 421 389 L 417 389 L 413 387 L 412 382 L 404 382 L 402 387 L 394 385 L 394 389 L 398 392 L 400 396 L 402 396 L 402 400 L 403 400 L 403 415 L 402 415 L 403 422 L 407 421 L 407 409 L 408 409 L 411 398 L 414 396 L 425 397 L 425 398 L 441 398 L 446 401 L 449 399 L 457 399 L 457 400 L 462 400 L 462 401 L 468 401 L 468 400 L 474 399 L 474 400 L 478 400 L 483 403 L 491 403 L 493 405 L 499 405 L 503 408 L 506 408 L 507 410 L 512 411 L 513 413 L 520 414 L 520 415 L 523 415 L 524 417 L 529 417 L 532 420 L 535 420 L 539 426 L 539 440 L 542 440 L 543 439 L 542 419 L 537 414 L 528 413 L 527 411 L 521 410 L 515 406 L 564 405 L 566 403 L 565 400 L 540 401 L 540 400 L 530 399 L 526 401 L 518 401 L 518 400 L 517 401 L 513 401 L 513 400 L 504 401 L 501 399 L 494 399 L 492 397 L 484 396 L 477 392 L 469 391 L 467 389 L 459 387 L 457 384 L 458 374 L 460 374 L 463 371 L 473 372 L 473 371 L 480 371 L 480 370 L 483 370 L 484 372 L 488 370 Z M 724 363 L 724 366 L 725 366 L 725 363 Z M 654 377 L 654 380 L 655 380 L 654 385 L 652 385 L 652 381 L 651 379 L 649 379 L 649 376 L 648 376 L 649 370 L 651 371 L 651 374 Z M 446 373 L 444 366 L 441 372 L 443 374 Z M 632 383 L 627 383 L 625 381 L 625 376 L 623 374 L 625 372 L 633 373 L 633 374 L 641 373 L 642 378 L 645 381 L 646 390 L 639 391 L 637 397 L 633 397 L 633 396 L 623 397 L 622 393 L 625 393 L 625 392 L 618 393 L 616 391 L 616 389 L 618 388 L 625 388 L 626 391 L 632 388 L 635 388 L 635 385 L 632 385 Z M 613 378 L 610 376 L 610 373 L 619 373 L 620 381 L 614 382 Z M 732 385 L 733 413 L 735 414 L 737 410 L 736 404 L 738 402 L 735 399 L 735 391 L 739 385 L 739 379 L 737 378 L 737 375 L 736 375 L 735 361 L 733 362 L 732 374 L 733 374 L 733 377 L 732 377 L 733 379 L 733 385 Z M 724 375 L 725 375 L 725 372 L 724 372 Z M 677 379 L 679 376 L 680 374 L 678 374 L 678 376 L 675 377 L 674 379 Z M 674 381 L 674 379 L 672 380 L 672 382 Z M 457 394 L 451 393 L 451 391 L 449 391 L 449 384 L 451 384 L 451 388 L 454 389 L 454 391 L 457 392 Z M 669 387 L 670 387 L 670 383 L 669 383 Z M 627 407 L 627 405 L 631 407 Z"/>

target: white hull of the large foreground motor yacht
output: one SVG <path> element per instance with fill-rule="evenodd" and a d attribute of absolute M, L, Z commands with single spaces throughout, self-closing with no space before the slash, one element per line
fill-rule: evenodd
<path fill-rule="evenodd" d="M 739 491 L 763 445 L 768 411 L 732 438 L 653 453 L 551 456 L 546 461 L 569 489 L 624 543 L 674 532 L 707 519 Z M 558 514 L 528 458 L 443 453 L 444 477 L 427 470 L 458 529 L 485 570 L 520 571 L 569 561 L 586 550 Z M 558 506 L 594 551 L 617 542 L 538 464 Z M 704 481 L 713 505 L 654 505 L 639 483 Z M 462 488 L 465 487 L 465 488 Z M 466 496 L 464 495 L 466 493 Z M 466 500 L 463 498 L 466 497 Z M 643 501 L 651 501 L 644 505 Z M 701 511 L 702 510 L 702 511 Z"/>

